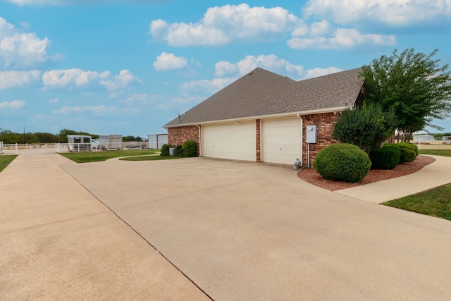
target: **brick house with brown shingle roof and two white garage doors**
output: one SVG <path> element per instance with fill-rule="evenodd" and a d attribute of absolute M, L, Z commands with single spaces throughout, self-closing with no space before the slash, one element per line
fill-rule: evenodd
<path fill-rule="evenodd" d="M 306 165 L 307 137 L 316 137 L 308 145 L 313 162 L 336 142 L 331 134 L 340 113 L 361 104 L 360 73 L 355 68 L 296 81 L 256 68 L 163 125 L 168 144 L 194 140 L 199 156 L 277 164 L 299 158 Z"/>

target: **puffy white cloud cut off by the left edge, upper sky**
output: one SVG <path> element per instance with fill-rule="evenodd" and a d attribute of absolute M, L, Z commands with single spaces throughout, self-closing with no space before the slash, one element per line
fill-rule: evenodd
<path fill-rule="evenodd" d="M 61 54 L 47 55 L 50 40 L 35 32 L 20 32 L 0 17 L 0 68 L 30 68 L 46 61 L 57 61 Z"/>

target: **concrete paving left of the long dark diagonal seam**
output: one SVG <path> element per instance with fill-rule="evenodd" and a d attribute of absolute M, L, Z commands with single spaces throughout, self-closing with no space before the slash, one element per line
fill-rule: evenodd
<path fill-rule="evenodd" d="M 58 164 L 77 166 L 23 151 L 0 173 L 1 300 L 209 300 Z"/>

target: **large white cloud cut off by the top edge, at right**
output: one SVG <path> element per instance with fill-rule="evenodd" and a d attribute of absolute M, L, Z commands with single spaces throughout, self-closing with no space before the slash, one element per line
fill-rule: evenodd
<path fill-rule="evenodd" d="M 309 0 L 306 16 L 333 20 L 337 24 L 385 23 L 408 26 L 436 23 L 438 19 L 450 24 L 450 0 Z"/>

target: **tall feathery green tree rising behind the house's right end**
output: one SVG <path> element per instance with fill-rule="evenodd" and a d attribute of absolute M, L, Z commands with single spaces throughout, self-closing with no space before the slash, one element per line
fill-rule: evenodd
<path fill-rule="evenodd" d="M 430 126 L 433 118 L 444 119 L 451 113 L 451 73 L 431 54 L 397 50 L 391 56 L 374 59 L 364 67 L 368 94 L 366 102 L 381 104 L 384 111 L 393 107 L 397 116 L 397 140 L 406 141 L 412 133 Z"/>

